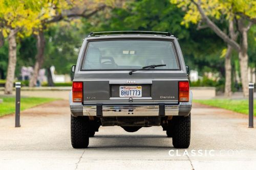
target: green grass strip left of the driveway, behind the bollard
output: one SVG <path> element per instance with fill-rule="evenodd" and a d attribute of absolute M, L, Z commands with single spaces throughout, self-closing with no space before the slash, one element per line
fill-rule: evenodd
<path fill-rule="evenodd" d="M 0 103 L 0 116 L 15 113 L 15 98 L 1 98 L 3 103 Z M 25 110 L 33 106 L 55 101 L 51 98 L 22 98 L 20 99 L 20 110 Z"/>

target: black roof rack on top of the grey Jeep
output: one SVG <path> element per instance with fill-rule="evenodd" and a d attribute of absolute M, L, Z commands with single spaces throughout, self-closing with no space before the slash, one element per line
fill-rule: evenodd
<path fill-rule="evenodd" d="M 103 35 L 125 35 L 125 34 L 136 34 L 136 35 L 161 35 L 161 36 L 172 36 L 168 32 L 155 32 L 155 31 L 108 31 L 108 32 L 91 32 L 88 37 L 97 37 Z"/>

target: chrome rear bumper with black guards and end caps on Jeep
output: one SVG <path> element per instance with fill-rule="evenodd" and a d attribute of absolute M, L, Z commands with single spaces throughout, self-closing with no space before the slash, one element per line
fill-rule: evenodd
<path fill-rule="evenodd" d="M 187 116 L 192 107 L 192 92 L 189 102 L 180 102 L 178 105 L 82 105 L 72 102 L 70 94 L 70 110 L 73 116 Z"/>

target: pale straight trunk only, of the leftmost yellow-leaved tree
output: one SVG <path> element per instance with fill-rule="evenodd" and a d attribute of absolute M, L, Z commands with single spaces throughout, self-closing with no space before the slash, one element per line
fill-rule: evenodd
<path fill-rule="evenodd" d="M 5 83 L 5 94 L 12 94 L 15 67 L 16 67 L 16 37 L 15 31 L 11 30 L 8 37 L 8 69 Z"/>

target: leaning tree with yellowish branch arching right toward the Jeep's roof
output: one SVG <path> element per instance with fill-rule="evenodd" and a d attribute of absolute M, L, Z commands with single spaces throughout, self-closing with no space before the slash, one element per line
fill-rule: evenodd
<path fill-rule="evenodd" d="M 73 19 L 75 17 L 89 18 L 96 14 L 98 11 L 103 10 L 106 7 L 106 3 L 109 3 L 109 1 L 104 3 L 104 1 L 67 2 L 66 0 L 59 0 L 52 1 L 50 5 L 49 2 L 44 5 L 44 8 L 42 8 L 44 15 L 40 14 L 38 16 L 40 19 L 40 27 L 37 30 L 38 34 L 36 35 L 37 54 L 33 75 L 29 82 L 30 87 L 36 85 L 39 69 L 44 63 L 44 51 L 46 45 L 44 30 L 48 29 L 53 23 L 59 22 L 61 20 L 68 20 L 70 18 Z"/>

